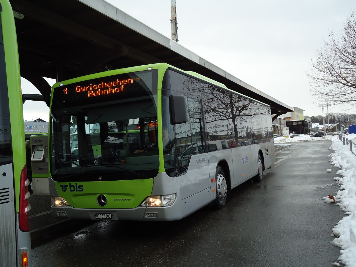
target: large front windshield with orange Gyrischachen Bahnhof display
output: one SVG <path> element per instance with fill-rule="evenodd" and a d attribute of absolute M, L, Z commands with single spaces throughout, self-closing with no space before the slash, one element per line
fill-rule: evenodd
<path fill-rule="evenodd" d="M 154 71 L 118 74 L 54 88 L 50 130 L 53 180 L 68 181 L 73 175 L 82 181 L 98 180 L 98 177 L 122 180 L 157 175 L 155 75 Z M 132 84 L 119 83 L 129 79 L 133 80 Z M 120 92 L 115 92 L 115 87 L 111 86 L 111 93 L 106 92 L 109 96 L 88 97 L 100 94 L 100 89 L 94 89 L 95 84 L 104 84 L 101 92 L 106 84 L 114 84 L 108 81 L 119 81 Z M 78 87 L 87 88 L 87 91 L 79 95 L 74 92 Z M 72 97 L 67 98 L 67 95 Z M 113 175 L 113 172 L 120 174 Z"/>

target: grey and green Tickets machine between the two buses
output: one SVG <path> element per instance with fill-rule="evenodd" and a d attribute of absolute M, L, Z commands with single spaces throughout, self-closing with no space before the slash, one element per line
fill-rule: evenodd
<path fill-rule="evenodd" d="M 48 134 L 31 135 L 32 189 L 34 195 L 49 195 Z"/>

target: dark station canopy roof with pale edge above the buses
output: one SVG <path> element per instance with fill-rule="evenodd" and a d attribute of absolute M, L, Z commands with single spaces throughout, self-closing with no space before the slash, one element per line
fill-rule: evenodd
<path fill-rule="evenodd" d="M 209 77 L 271 106 L 281 115 L 293 108 L 216 67 L 104 0 L 10 0 L 17 17 L 21 76 L 47 105 L 57 81 L 109 69 L 166 62 Z M 22 16 L 23 15 L 23 16 Z"/>

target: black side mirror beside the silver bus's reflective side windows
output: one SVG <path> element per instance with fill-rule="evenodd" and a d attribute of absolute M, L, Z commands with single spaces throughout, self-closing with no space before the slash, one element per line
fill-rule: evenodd
<path fill-rule="evenodd" d="M 184 95 L 169 96 L 169 115 L 172 125 L 188 121 L 187 99 Z"/>

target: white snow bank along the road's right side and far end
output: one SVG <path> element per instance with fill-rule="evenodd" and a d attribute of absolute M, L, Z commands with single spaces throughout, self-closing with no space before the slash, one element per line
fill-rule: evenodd
<path fill-rule="evenodd" d="M 346 136 L 353 143 L 356 143 L 356 134 Z M 334 177 L 340 186 L 339 190 L 335 192 L 336 205 L 345 211 L 345 216 L 336 223 L 333 229 L 332 242 L 335 246 L 341 248 L 339 262 L 333 263 L 333 266 L 340 266 L 340 263 L 348 267 L 356 267 L 356 156 L 350 151 L 350 145 L 343 145 L 342 141 L 337 139 L 336 136 L 324 137 L 309 137 L 307 135 L 297 136 L 293 138 L 278 137 L 274 138 L 274 143 L 290 143 L 290 142 L 307 142 L 317 140 L 333 140 L 330 149 L 334 152 L 331 153 L 330 164 L 340 168 L 336 174 L 342 177 Z M 355 147 L 353 151 L 356 152 Z M 325 172 L 330 172 L 330 169 Z M 333 181 L 330 181 L 330 184 Z M 325 196 L 325 205 L 334 203 L 334 200 Z"/>

